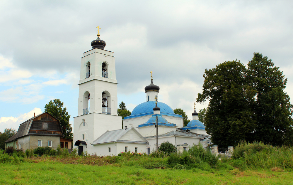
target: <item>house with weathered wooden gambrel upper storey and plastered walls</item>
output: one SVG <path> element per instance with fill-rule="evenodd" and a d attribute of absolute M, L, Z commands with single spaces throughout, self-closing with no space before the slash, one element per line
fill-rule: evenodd
<path fill-rule="evenodd" d="M 5 147 L 26 150 L 49 146 L 56 149 L 60 137 L 63 137 L 60 121 L 44 112 L 20 124 L 17 133 L 5 141 Z"/>

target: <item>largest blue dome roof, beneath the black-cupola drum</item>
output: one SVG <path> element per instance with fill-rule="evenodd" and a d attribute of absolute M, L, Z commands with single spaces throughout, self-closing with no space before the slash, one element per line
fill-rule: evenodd
<path fill-rule="evenodd" d="M 137 105 L 130 116 L 124 117 L 125 119 L 130 119 L 134 117 L 141 117 L 145 115 L 152 115 L 154 114 L 153 108 L 156 106 L 156 101 L 147 101 Z M 168 115 L 174 117 L 182 117 L 181 115 L 175 114 L 172 108 L 163 102 L 157 102 L 157 106 L 160 107 L 160 114 L 161 115 Z"/>

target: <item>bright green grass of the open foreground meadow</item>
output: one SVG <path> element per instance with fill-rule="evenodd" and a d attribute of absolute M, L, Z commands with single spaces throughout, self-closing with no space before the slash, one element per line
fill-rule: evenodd
<path fill-rule="evenodd" d="M 143 165 L 101 165 L 94 162 L 97 159 L 39 157 L 19 164 L 3 163 L 0 184 L 293 184 L 293 173 L 280 168 L 242 171 L 228 166 L 210 172 L 198 168 L 145 169 Z M 77 164 L 71 164 L 74 161 Z"/>

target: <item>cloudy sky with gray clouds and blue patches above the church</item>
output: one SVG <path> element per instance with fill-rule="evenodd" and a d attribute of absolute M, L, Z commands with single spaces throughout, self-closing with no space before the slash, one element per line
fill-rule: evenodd
<path fill-rule="evenodd" d="M 293 97 L 293 1 L 0 1 L 0 132 L 59 98 L 77 116 L 82 53 L 96 39 L 116 57 L 118 102 L 144 87 L 191 118 L 205 69 L 254 52 L 272 58 Z M 197 104 L 197 110 L 207 107 Z"/>

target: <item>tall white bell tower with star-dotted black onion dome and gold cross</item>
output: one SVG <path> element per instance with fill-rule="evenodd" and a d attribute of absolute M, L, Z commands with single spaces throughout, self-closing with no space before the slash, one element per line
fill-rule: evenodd
<path fill-rule="evenodd" d="M 74 117 L 74 145 L 79 153 L 94 154 L 91 145 L 107 130 L 121 129 L 122 117 L 117 114 L 117 80 L 113 52 L 104 50 L 106 43 L 98 38 L 92 49 L 81 58 L 78 116 Z"/>

